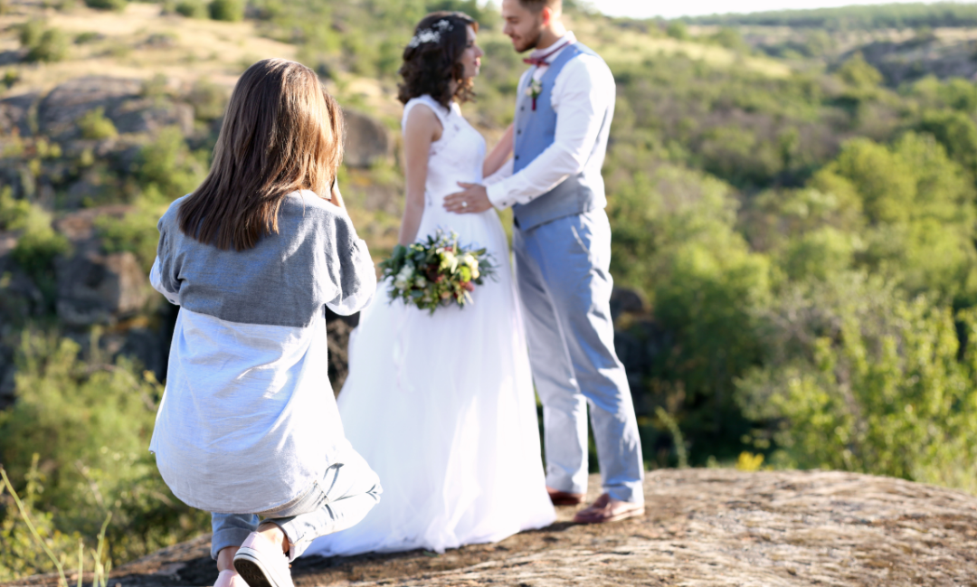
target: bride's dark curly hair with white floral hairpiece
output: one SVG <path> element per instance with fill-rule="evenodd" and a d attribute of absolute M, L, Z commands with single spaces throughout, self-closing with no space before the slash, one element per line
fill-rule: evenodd
<path fill-rule="evenodd" d="M 425 94 L 445 107 L 452 98 L 462 103 L 475 99 L 473 80 L 464 77 L 460 63 L 468 46 L 468 26 L 479 30 L 479 23 L 468 15 L 446 11 L 431 13 L 417 23 L 399 71 L 404 81 L 398 85 L 397 98 L 402 103 Z M 453 94 L 452 81 L 458 84 Z"/>

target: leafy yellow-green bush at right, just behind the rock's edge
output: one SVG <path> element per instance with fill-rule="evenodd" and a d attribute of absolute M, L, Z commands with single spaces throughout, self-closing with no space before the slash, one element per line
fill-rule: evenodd
<path fill-rule="evenodd" d="M 765 366 L 737 382 L 774 463 L 977 490 L 977 313 L 956 319 L 963 349 L 950 309 L 878 278 L 786 291 L 765 317 Z"/>

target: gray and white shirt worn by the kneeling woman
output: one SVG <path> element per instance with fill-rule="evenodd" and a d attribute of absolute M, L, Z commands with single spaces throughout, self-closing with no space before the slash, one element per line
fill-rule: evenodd
<path fill-rule="evenodd" d="M 364 308 L 376 289 L 346 212 L 288 194 L 278 232 L 245 251 L 159 221 L 152 286 L 179 305 L 166 392 L 149 450 L 194 508 L 264 512 L 298 497 L 350 450 L 328 380 L 324 307 Z"/>

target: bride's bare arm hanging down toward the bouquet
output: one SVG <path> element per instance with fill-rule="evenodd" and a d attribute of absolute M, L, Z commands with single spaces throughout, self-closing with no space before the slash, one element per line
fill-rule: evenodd
<path fill-rule="evenodd" d="M 404 201 L 404 220 L 398 242 L 404 246 L 414 242 L 424 215 L 424 186 L 427 184 L 428 156 L 431 144 L 441 139 L 442 127 L 438 116 L 426 105 L 410 109 L 404 125 L 404 172 L 407 195 Z"/>

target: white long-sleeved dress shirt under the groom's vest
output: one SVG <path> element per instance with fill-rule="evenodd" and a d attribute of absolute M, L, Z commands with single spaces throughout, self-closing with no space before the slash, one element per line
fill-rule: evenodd
<path fill-rule="evenodd" d="M 576 42 L 573 31 L 568 31 L 553 46 Z M 531 57 L 540 57 L 551 51 L 537 49 Z M 553 63 L 564 49 L 547 58 Z M 548 65 L 531 67 L 519 82 L 520 92 L 529 84 L 529 76 L 541 79 Z M 604 164 L 603 156 L 592 156 L 607 149 L 609 130 L 603 128 L 604 112 L 614 104 L 616 88 L 614 75 L 607 63 L 598 57 L 583 54 L 564 65 L 553 82 L 550 105 L 557 112 L 556 138 L 522 171 L 513 174 L 510 158 L 494 175 L 486 180 L 488 199 L 496 208 L 504 209 L 513 204 L 527 204 L 534 198 L 559 186 L 572 175 L 587 166 Z"/>

